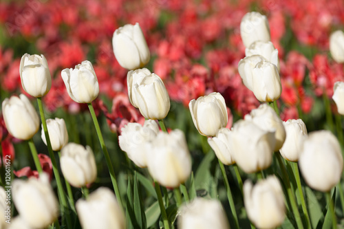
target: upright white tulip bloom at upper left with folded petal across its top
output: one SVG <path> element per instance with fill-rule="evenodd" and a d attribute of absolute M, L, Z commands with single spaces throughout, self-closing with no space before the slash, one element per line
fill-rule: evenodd
<path fill-rule="evenodd" d="M 19 69 L 21 86 L 30 96 L 45 96 L 52 87 L 47 60 L 43 55 L 24 54 Z"/>

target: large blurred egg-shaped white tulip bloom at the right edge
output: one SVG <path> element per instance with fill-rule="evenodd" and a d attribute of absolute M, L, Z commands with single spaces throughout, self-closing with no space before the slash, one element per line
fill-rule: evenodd
<path fill-rule="evenodd" d="M 299 158 L 303 179 L 311 188 L 328 192 L 341 179 L 343 156 L 338 140 L 330 131 L 314 131 L 303 142 Z"/>

